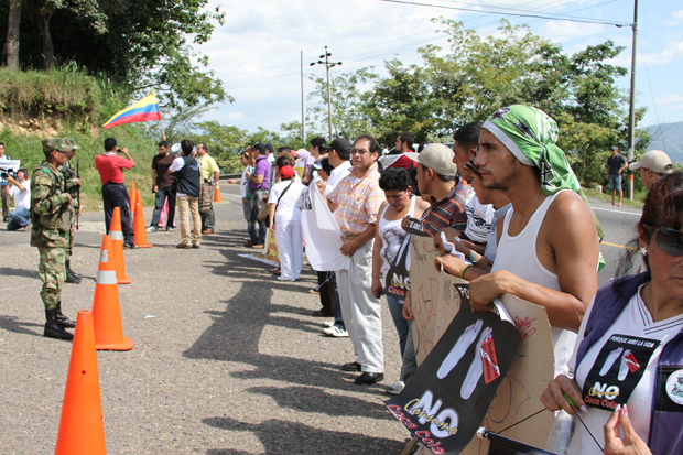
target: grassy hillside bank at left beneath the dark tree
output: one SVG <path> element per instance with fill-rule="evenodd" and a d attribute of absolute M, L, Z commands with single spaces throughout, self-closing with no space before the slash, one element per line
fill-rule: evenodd
<path fill-rule="evenodd" d="M 151 193 L 152 156 L 159 139 L 143 133 L 139 126 L 104 130 L 101 124 L 126 107 L 129 96 L 108 79 L 88 75 L 75 64 L 50 72 L 0 68 L 0 142 L 22 167 L 33 171 L 44 159 L 41 141 L 50 137 L 71 137 L 80 145 L 82 199 L 86 210 L 101 209 L 101 182 L 95 169 L 95 155 L 104 151 L 104 141 L 113 137 L 126 147 L 135 167 L 126 171 L 126 183 L 134 181 L 143 204 Z M 76 158 L 74 158 L 74 165 Z"/>

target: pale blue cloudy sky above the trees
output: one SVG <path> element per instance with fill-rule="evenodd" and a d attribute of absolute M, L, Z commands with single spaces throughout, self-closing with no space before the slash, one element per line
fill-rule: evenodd
<path fill-rule="evenodd" d="M 250 131 L 258 127 L 278 131 L 283 122 L 301 120 L 302 51 L 307 94 L 313 88 L 308 77 L 325 76 L 324 66 L 308 66 L 318 59 L 325 45 L 333 61 L 343 62 L 333 74 L 366 66 L 382 74 L 386 59 L 419 63 L 419 47 L 447 45 L 432 18 L 463 21 L 483 35 L 495 32 L 501 18 L 424 4 L 475 10 L 499 7 L 516 13 L 524 10 L 628 24 L 633 20 L 633 0 L 398 1 L 422 6 L 381 0 L 210 0 L 226 13 L 226 22 L 199 51 L 209 56 L 210 68 L 236 101 L 218 106 L 204 118 Z M 566 53 L 612 40 L 627 47 L 615 63 L 630 68 L 630 26 L 508 19 L 561 43 Z M 638 22 L 637 104 L 648 107 L 642 124 L 683 121 L 683 2 L 641 0 Z M 619 84 L 628 88 L 629 76 Z M 306 99 L 307 105 L 312 102 Z"/>

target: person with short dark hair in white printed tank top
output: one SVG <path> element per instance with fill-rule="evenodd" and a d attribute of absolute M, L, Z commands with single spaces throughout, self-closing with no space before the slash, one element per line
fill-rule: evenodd
<path fill-rule="evenodd" d="M 409 249 L 406 239 L 408 232 L 401 227 L 401 220 L 405 216 L 420 218 L 429 204 L 420 197 L 412 196 L 410 176 L 403 167 L 389 167 L 384 170 L 379 178 L 379 187 L 384 192 L 386 202 L 379 208 L 377 230 L 375 232 L 375 246 L 372 248 L 372 294 L 379 299 L 382 294 L 387 295 L 389 311 L 393 318 L 393 324 L 399 333 L 399 346 L 401 358 L 405 350 L 405 340 L 409 336 L 409 322 L 403 318 L 403 301 L 401 292 L 404 280 L 394 279 L 389 272 L 392 264 L 404 254 L 400 254 L 403 248 Z M 409 252 L 409 251 L 408 251 Z M 410 257 L 410 256 L 408 256 Z M 405 268 L 405 263 L 403 262 Z M 380 280 L 380 272 L 382 279 Z M 404 274 L 404 278 L 408 275 Z M 400 281 L 400 283 L 398 282 Z M 386 286 L 384 286 L 386 285 Z M 403 390 L 403 375 L 401 380 L 389 388 L 392 394 Z"/>

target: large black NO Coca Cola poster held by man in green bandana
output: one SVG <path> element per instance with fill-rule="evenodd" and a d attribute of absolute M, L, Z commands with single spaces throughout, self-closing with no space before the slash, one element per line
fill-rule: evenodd
<path fill-rule="evenodd" d="M 403 391 L 387 408 L 435 454 L 460 453 L 473 438 L 512 365 L 514 325 L 473 313 L 469 286 L 455 284 L 460 308 Z"/>

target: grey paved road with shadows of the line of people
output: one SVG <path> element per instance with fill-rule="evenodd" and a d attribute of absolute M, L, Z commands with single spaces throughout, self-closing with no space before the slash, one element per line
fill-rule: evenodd
<path fill-rule="evenodd" d="M 217 234 L 200 250 L 176 250 L 180 234 L 148 235 L 151 249 L 126 252 L 133 282 L 119 286 L 128 353 L 98 353 L 110 454 L 395 454 L 408 434 L 383 409 L 381 386 L 358 387 L 337 366 L 348 339 L 321 336 L 318 306 L 297 283 L 243 259 L 236 185 L 223 186 Z M 632 210 L 596 204 L 610 243 L 624 243 Z M 627 213 L 627 214 L 625 214 Z M 151 210 L 145 210 L 150 219 Z M 93 305 L 104 215 L 86 214 L 65 311 Z M 617 234 L 618 232 L 618 234 Z M 54 451 L 71 344 L 42 338 L 37 252 L 29 232 L 0 230 L 0 453 Z M 611 264 L 619 247 L 604 247 Z M 608 266 L 608 269 L 609 270 Z M 614 270 L 614 269 L 612 269 Z M 601 280 L 606 272 L 601 273 Z M 384 383 L 398 379 L 398 339 L 384 305 Z"/>

